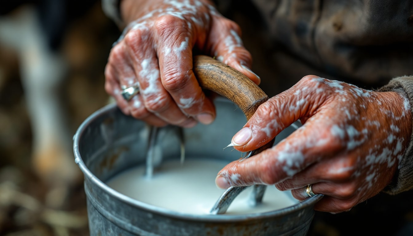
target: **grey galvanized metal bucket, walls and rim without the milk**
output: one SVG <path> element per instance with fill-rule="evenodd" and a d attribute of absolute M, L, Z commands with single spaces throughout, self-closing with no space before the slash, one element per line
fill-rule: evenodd
<path fill-rule="evenodd" d="M 223 151 L 245 124 L 244 113 L 226 98 L 215 100 L 216 120 L 184 129 L 185 153 L 237 160 L 240 153 Z M 251 236 L 306 235 L 314 216 L 311 198 L 280 210 L 246 215 L 191 215 L 156 207 L 114 191 L 105 184 L 124 170 L 145 164 L 147 139 L 144 122 L 124 115 L 115 104 L 88 117 L 74 136 L 75 161 L 85 176 L 91 236 Z M 276 142 L 294 129 L 288 127 Z M 164 159 L 180 156 L 176 138 L 162 144 Z"/>

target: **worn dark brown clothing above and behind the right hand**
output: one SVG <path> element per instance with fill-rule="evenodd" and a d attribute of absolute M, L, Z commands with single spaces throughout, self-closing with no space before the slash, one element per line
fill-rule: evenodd
<path fill-rule="evenodd" d="M 252 0 L 271 40 L 332 75 L 387 83 L 413 74 L 411 0 Z"/>

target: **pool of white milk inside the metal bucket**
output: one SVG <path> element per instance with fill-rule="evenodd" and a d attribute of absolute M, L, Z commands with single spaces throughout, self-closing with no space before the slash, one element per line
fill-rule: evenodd
<path fill-rule="evenodd" d="M 114 190 L 136 200 L 181 213 L 210 214 L 218 198 L 225 191 L 215 185 L 216 174 L 228 162 L 217 159 L 187 158 L 166 160 L 151 178 L 144 165 L 123 171 L 107 181 Z M 290 191 L 279 191 L 267 186 L 262 203 L 254 206 L 246 188 L 231 203 L 225 214 L 240 215 L 269 212 L 292 206 L 299 201 Z"/>

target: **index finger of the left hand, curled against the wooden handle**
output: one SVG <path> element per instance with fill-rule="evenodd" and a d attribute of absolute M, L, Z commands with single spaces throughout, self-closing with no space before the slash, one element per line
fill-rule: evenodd
<path fill-rule="evenodd" d="M 205 96 L 192 71 L 192 39 L 184 33 L 183 27 L 175 27 L 176 21 L 165 21 L 170 22 L 168 27 L 158 29 L 159 67 L 163 86 L 185 114 L 203 124 L 210 124 L 216 116 L 215 107 Z"/>

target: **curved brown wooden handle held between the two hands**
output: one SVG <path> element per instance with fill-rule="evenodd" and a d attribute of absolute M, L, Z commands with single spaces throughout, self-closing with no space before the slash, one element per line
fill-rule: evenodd
<path fill-rule="evenodd" d="M 194 73 L 202 88 L 214 91 L 233 101 L 247 120 L 268 96 L 247 76 L 212 57 L 194 57 Z"/>

